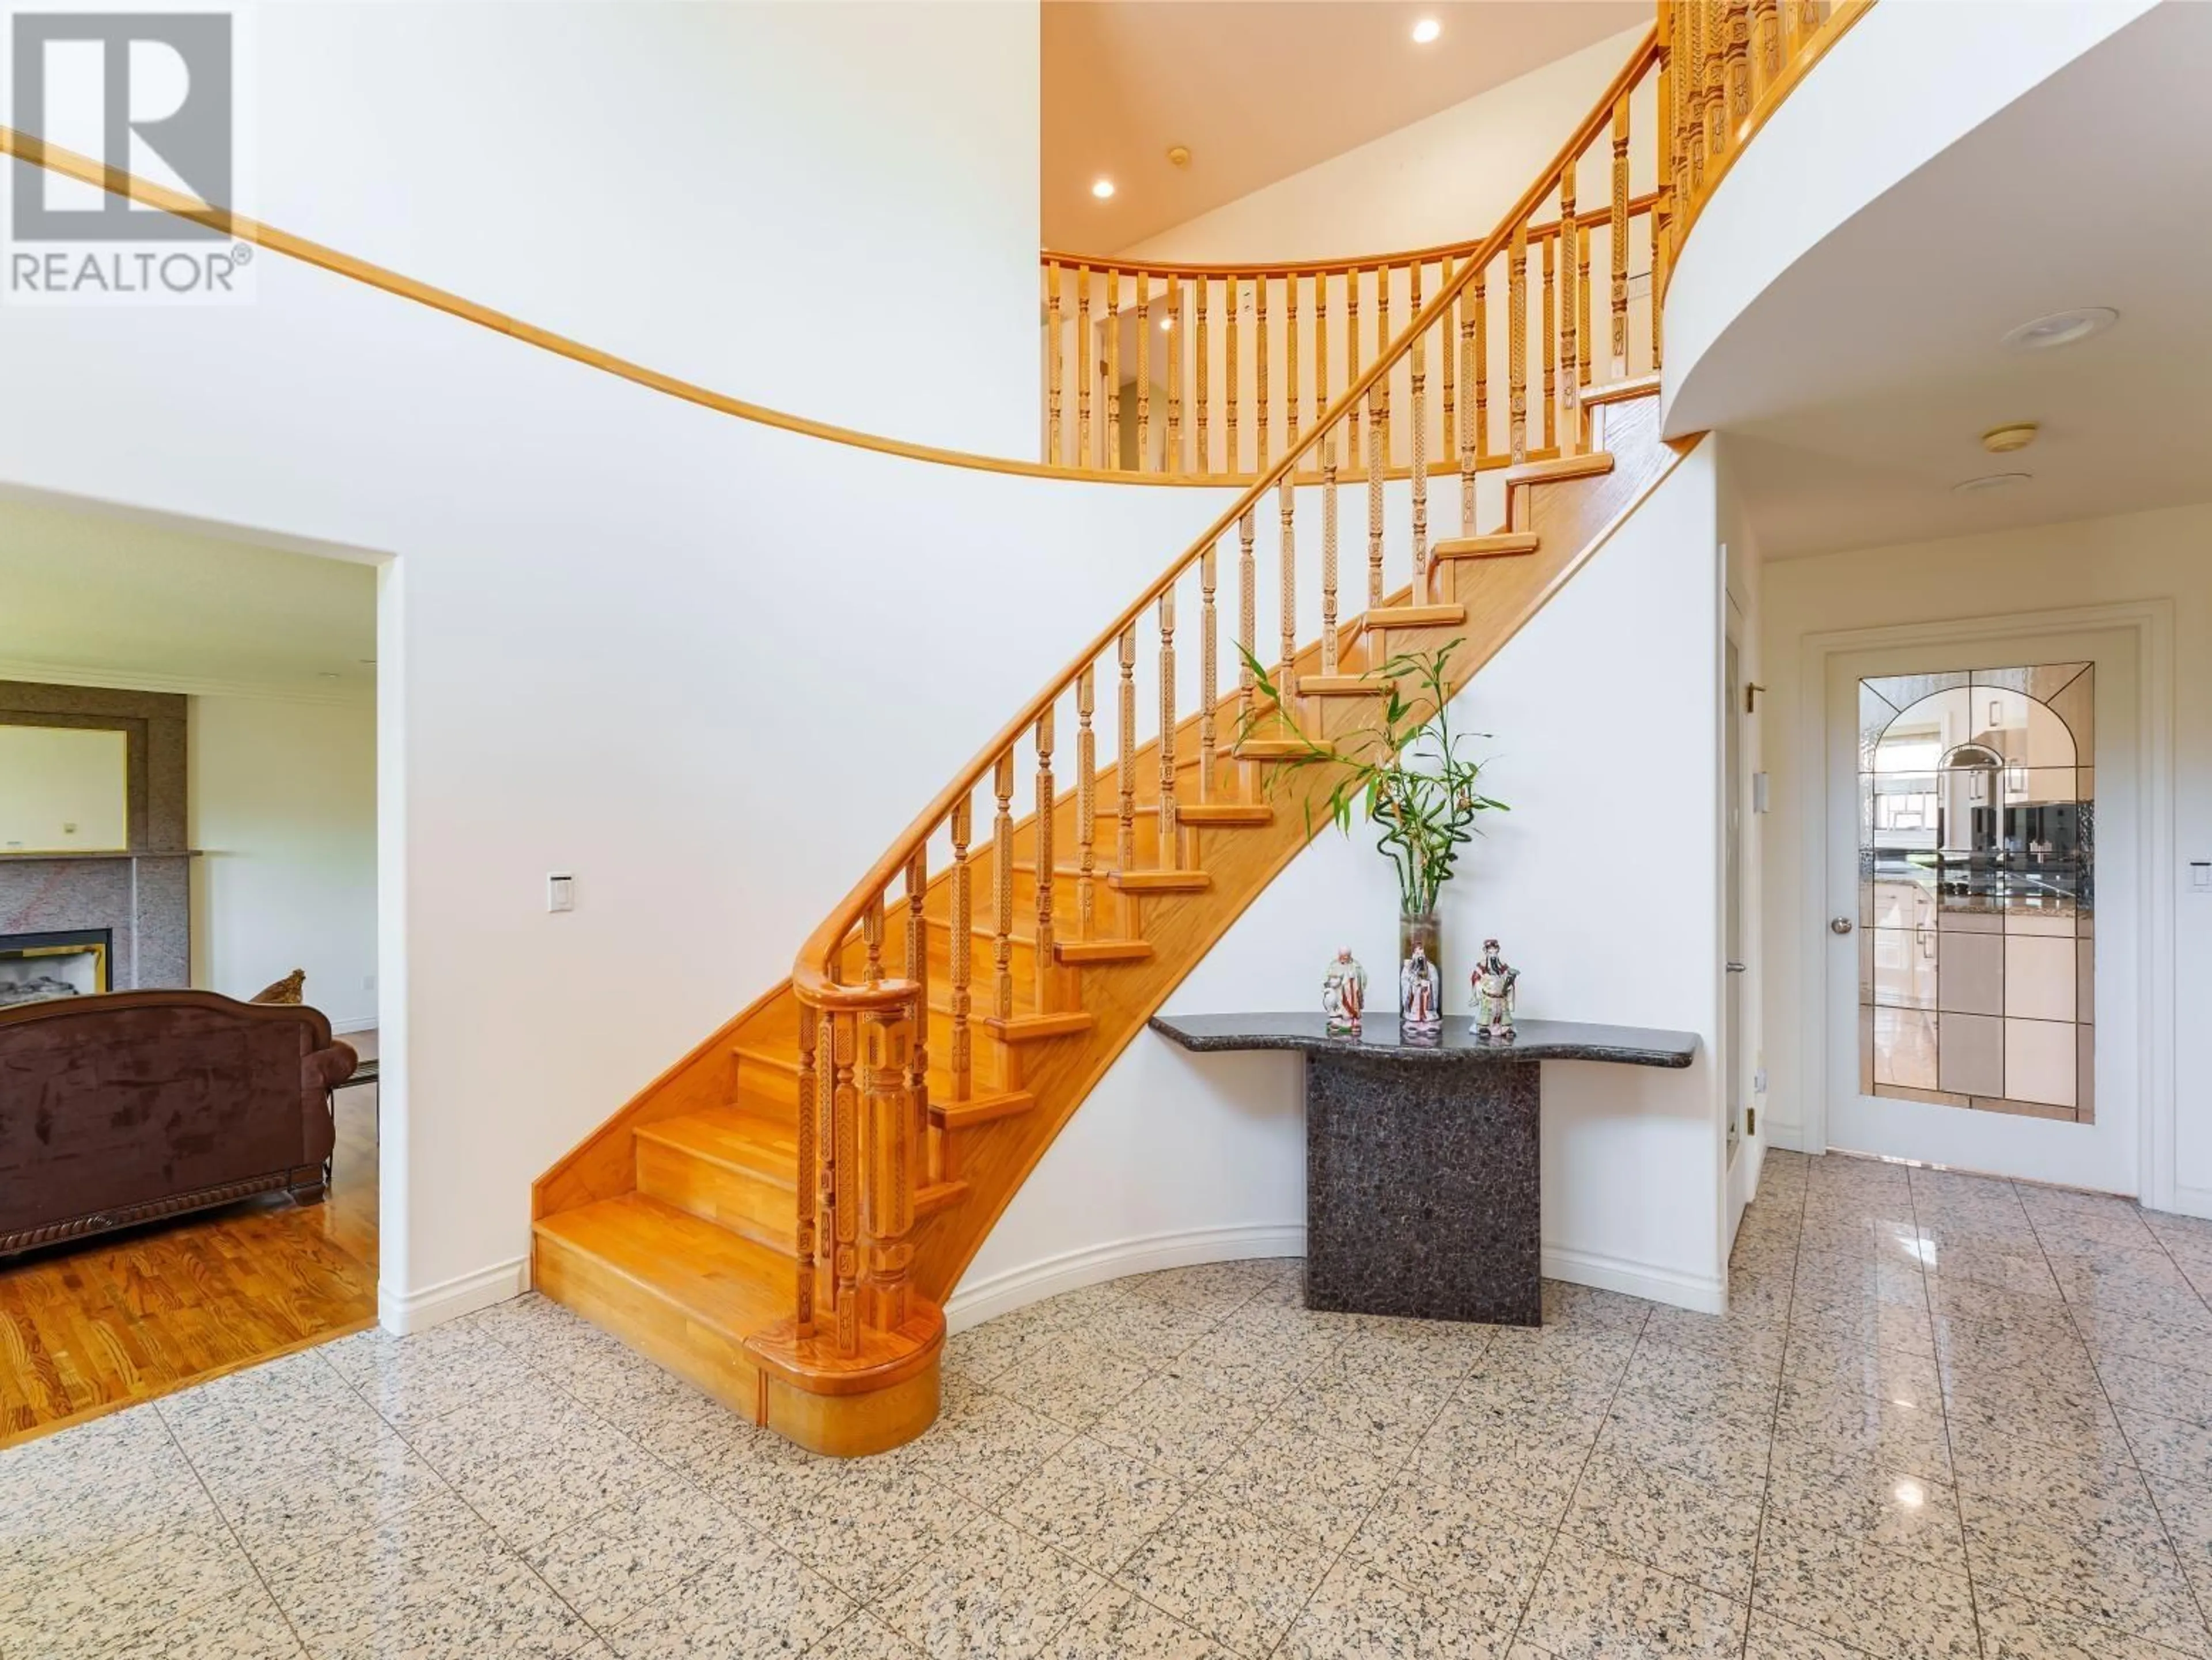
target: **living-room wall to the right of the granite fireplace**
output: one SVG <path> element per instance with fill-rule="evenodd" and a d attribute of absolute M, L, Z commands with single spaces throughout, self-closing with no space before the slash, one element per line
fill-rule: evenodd
<path fill-rule="evenodd" d="M 376 706 L 192 697 L 186 770 L 192 985 L 301 967 L 334 1027 L 376 1025 Z"/>

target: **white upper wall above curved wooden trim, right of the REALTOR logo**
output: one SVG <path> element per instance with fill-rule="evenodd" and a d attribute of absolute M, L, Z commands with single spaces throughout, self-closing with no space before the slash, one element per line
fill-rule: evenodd
<path fill-rule="evenodd" d="M 294 0 L 241 40 L 270 224 L 717 392 L 1033 454 L 1033 0 Z"/>

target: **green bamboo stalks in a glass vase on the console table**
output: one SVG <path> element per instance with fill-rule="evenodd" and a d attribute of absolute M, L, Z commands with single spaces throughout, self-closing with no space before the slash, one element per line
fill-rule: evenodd
<path fill-rule="evenodd" d="M 1460 850 L 1480 834 L 1478 819 L 1506 810 L 1504 801 L 1482 792 L 1482 764 L 1460 755 L 1460 744 L 1482 733 L 1451 730 L 1444 675 L 1458 646 L 1453 640 L 1433 653 L 1400 653 L 1369 671 L 1385 688 L 1376 713 L 1338 737 L 1307 733 L 1267 668 L 1243 653 L 1256 695 L 1239 722 L 1239 739 L 1267 726 L 1270 735 L 1301 746 L 1276 761 L 1267 788 L 1276 790 L 1294 775 L 1318 775 L 1305 799 L 1307 828 L 1314 808 L 1325 806 L 1336 828 L 1352 834 L 1358 810 L 1376 826 L 1376 845 L 1398 872 L 1402 1042 L 1436 1042 L 1442 1036 L 1444 965 L 1436 901 Z"/>

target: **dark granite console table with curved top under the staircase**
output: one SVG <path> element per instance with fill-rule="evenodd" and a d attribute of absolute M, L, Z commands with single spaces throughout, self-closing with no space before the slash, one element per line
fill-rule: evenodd
<path fill-rule="evenodd" d="M 1522 1020 L 1482 1042 L 1398 1042 L 1376 1016 L 1332 1038 L 1318 1014 L 1177 1014 L 1152 1029 L 1192 1051 L 1305 1054 L 1305 1306 L 1542 1326 L 1537 1078 L 1544 1060 L 1688 1067 L 1697 1036 Z"/>

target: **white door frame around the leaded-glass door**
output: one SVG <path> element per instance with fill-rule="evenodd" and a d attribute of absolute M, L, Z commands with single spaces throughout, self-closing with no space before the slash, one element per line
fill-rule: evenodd
<path fill-rule="evenodd" d="M 2154 1211 L 2212 1215 L 2212 1191 L 2174 1184 L 2174 606 L 2170 600 L 2013 611 L 1960 622 L 1907 622 L 1880 629 L 1809 633 L 1798 646 L 1798 733 L 1794 801 L 1798 815 L 1798 1102 L 1807 1153 L 1827 1151 L 1827 679 L 1829 660 L 1885 646 L 1960 646 L 2024 633 L 2119 629 L 2135 633 L 2137 744 L 2143 812 L 2137 874 L 2137 1180 Z"/>

